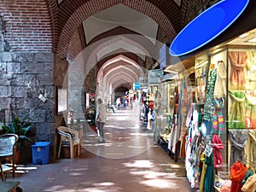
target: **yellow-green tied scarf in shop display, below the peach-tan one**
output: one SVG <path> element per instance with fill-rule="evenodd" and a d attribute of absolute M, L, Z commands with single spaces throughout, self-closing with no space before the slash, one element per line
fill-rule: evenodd
<path fill-rule="evenodd" d="M 229 91 L 230 110 L 229 110 L 229 129 L 245 129 L 245 93 L 244 91 Z"/>

